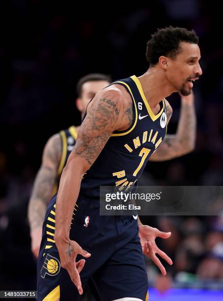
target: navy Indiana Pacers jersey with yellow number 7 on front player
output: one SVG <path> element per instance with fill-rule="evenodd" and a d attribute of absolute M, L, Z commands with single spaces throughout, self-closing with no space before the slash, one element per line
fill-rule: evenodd
<path fill-rule="evenodd" d="M 160 102 L 160 112 L 154 115 L 135 75 L 113 84 L 125 87 L 130 94 L 134 118 L 127 130 L 112 133 L 84 175 L 79 194 L 81 199 L 99 199 L 100 186 L 115 185 L 119 186 L 119 190 L 130 189 L 167 132 L 165 99 Z"/>

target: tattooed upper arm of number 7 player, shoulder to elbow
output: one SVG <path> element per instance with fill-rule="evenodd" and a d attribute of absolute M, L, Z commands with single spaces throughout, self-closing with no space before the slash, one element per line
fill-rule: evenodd
<path fill-rule="evenodd" d="M 94 99 L 78 133 L 72 157 L 84 159 L 87 170 L 103 150 L 112 132 L 120 126 L 123 99 L 117 92 Z M 68 161 L 72 159 L 70 156 Z"/>

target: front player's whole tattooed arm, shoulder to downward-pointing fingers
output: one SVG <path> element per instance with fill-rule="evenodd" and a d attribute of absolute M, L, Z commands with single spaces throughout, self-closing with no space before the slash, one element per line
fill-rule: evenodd
<path fill-rule="evenodd" d="M 61 175 L 56 199 L 54 239 L 61 267 L 68 271 L 80 294 L 83 293 L 83 289 L 74 262 L 78 254 L 86 258 L 90 254 L 76 241 L 69 239 L 73 208 L 84 173 L 94 163 L 112 132 L 125 126 L 128 127 L 127 109 L 127 101 L 124 101 L 122 91 L 111 89 L 111 87 L 99 91 L 87 108 L 87 115 L 79 129 L 76 145 Z"/>

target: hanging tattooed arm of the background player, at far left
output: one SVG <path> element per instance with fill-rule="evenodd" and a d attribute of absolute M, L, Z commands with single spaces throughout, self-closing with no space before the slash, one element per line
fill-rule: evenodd
<path fill-rule="evenodd" d="M 42 164 L 35 178 L 28 205 L 31 248 L 35 257 L 39 253 L 42 225 L 48 202 L 53 194 L 61 154 L 62 141 L 60 135 L 56 134 L 48 140 L 43 151 Z"/>

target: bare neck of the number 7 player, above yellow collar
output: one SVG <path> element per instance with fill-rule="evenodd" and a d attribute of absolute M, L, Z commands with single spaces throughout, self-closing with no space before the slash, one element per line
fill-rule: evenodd
<path fill-rule="evenodd" d="M 151 109 L 155 108 L 162 99 L 173 92 L 163 70 L 159 68 L 149 68 L 138 78 Z"/>

